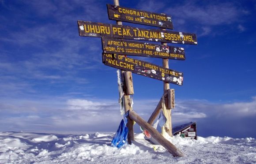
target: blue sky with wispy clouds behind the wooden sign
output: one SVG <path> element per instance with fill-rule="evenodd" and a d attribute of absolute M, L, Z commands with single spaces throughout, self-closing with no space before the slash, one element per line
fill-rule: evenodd
<path fill-rule="evenodd" d="M 0 131 L 117 130 L 116 69 L 102 64 L 101 39 L 79 37 L 77 27 L 78 20 L 115 24 L 106 4 L 113 1 L 0 0 Z M 173 126 L 196 121 L 200 136 L 256 138 L 255 0 L 120 0 L 120 6 L 166 13 L 174 31 L 197 34 L 198 45 L 174 45 L 185 48 L 186 60 L 169 61 L 184 72 L 183 86 L 170 85 Z M 133 82 L 134 110 L 147 120 L 163 83 L 134 74 Z"/>

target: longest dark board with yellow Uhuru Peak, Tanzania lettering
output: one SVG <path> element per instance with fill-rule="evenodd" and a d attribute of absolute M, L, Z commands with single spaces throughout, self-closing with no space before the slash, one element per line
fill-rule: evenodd
<path fill-rule="evenodd" d="M 166 43 L 197 45 L 196 34 L 147 30 L 131 26 L 78 21 L 79 35 L 82 37 L 112 37 L 117 39 L 135 39 Z"/>

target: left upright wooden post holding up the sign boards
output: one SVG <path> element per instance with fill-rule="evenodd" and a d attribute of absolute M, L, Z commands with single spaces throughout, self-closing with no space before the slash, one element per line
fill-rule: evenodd
<path fill-rule="evenodd" d="M 119 0 L 114 0 L 114 4 L 119 6 Z M 121 21 L 117 21 L 118 25 L 122 25 Z M 128 112 L 132 111 L 132 101 L 130 98 L 130 94 L 134 94 L 133 84 L 132 84 L 132 72 L 130 71 L 121 71 L 121 77 L 124 78 L 122 81 L 125 82 L 124 85 L 124 111 Z M 131 141 L 134 141 L 134 129 L 133 129 L 133 120 L 128 117 L 128 123 L 126 124 L 128 127 L 128 144 L 131 144 Z"/>

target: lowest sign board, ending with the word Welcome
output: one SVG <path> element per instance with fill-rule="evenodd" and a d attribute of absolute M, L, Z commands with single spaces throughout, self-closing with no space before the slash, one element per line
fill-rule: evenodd
<path fill-rule="evenodd" d="M 183 73 L 170 70 L 142 60 L 136 60 L 122 55 L 102 53 L 102 63 L 124 71 L 147 76 L 179 86 L 183 84 Z"/>

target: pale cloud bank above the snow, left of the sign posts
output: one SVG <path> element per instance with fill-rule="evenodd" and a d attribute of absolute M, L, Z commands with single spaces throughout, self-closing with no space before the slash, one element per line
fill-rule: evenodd
<path fill-rule="evenodd" d="M 0 131 L 10 130 L 114 130 L 120 122 L 117 101 L 91 101 L 52 97 L 0 102 Z"/>

